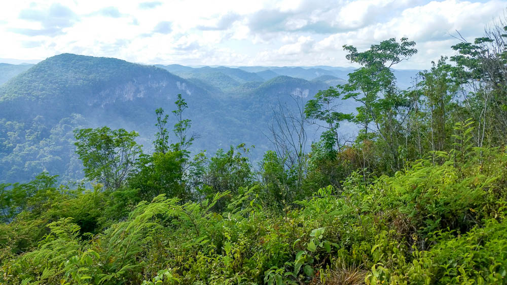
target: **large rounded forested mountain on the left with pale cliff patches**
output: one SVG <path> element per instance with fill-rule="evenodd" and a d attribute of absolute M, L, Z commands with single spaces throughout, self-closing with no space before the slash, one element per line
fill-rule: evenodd
<path fill-rule="evenodd" d="M 155 109 L 169 112 L 178 93 L 201 126 L 203 114 L 220 109 L 202 87 L 155 66 L 73 54 L 48 58 L 0 86 L 0 181 L 44 170 L 80 178 L 75 128 L 137 130 L 150 146 Z"/>

